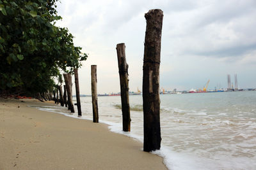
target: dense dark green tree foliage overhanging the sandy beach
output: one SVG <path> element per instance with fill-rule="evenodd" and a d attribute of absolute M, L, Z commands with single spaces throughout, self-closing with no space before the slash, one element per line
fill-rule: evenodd
<path fill-rule="evenodd" d="M 0 0 L 0 91 L 45 92 L 87 59 L 67 28 L 56 27 L 58 0 Z"/>

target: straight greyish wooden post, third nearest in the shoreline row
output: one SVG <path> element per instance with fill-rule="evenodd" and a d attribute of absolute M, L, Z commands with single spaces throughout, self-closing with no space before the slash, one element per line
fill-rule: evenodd
<path fill-rule="evenodd" d="M 93 122 L 99 122 L 98 113 L 98 97 L 97 97 L 97 66 L 91 66 L 91 77 L 92 77 L 92 111 L 93 111 Z"/>

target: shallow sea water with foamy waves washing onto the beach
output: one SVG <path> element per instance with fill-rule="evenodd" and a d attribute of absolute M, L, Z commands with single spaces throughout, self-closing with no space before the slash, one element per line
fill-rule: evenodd
<path fill-rule="evenodd" d="M 256 169 L 256 92 L 164 94 L 161 150 L 168 169 Z M 76 97 L 74 97 L 76 100 Z M 122 132 L 120 96 L 98 97 L 99 121 L 143 142 L 142 96 L 129 96 L 131 132 Z M 76 103 L 76 101 L 74 101 Z M 81 118 L 92 120 L 92 97 L 81 97 Z M 77 118 L 67 108 L 44 107 Z"/>

